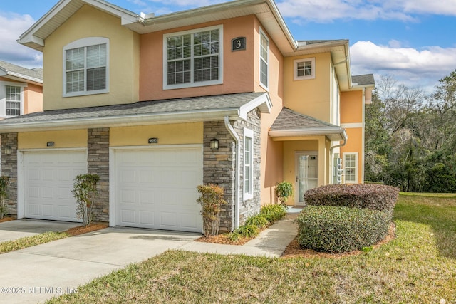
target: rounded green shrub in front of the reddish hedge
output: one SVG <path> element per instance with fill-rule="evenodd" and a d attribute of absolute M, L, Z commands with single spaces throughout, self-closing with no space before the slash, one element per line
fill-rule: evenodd
<path fill-rule="evenodd" d="M 301 248 L 341 253 L 385 239 L 390 212 L 336 206 L 308 206 L 296 219 Z"/>

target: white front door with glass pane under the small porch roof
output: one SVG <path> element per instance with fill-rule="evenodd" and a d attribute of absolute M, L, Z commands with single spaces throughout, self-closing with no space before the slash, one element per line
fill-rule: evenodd
<path fill-rule="evenodd" d="M 304 194 L 318 186 L 318 155 L 296 153 L 296 205 L 304 205 Z"/>

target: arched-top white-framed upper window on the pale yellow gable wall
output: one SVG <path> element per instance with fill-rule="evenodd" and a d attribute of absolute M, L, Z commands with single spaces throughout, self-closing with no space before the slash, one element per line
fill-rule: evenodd
<path fill-rule="evenodd" d="M 109 92 L 109 39 L 83 38 L 63 47 L 63 96 Z"/>

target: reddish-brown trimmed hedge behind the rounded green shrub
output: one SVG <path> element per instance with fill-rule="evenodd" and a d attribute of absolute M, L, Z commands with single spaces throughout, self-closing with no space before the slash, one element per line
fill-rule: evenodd
<path fill-rule="evenodd" d="M 330 184 L 309 189 L 304 201 L 309 206 L 344 206 L 393 212 L 399 189 L 383 184 Z"/>

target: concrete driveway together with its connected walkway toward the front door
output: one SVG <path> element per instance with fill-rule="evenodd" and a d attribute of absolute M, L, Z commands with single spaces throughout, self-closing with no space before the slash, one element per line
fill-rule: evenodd
<path fill-rule="evenodd" d="M 296 236 L 294 218 L 296 214 L 288 214 L 244 246 L 194 241 L 200 234 L 110 227 L 0 254 L 0 303 L 37 303 L 63 293 L 77 292 L 79 285 L 169 249 L 278 257 Z M 0 223 L 0 240 L 6 239 L 8 234 L 13 235 L 14 225 L 22 227 L 24 234 L 38 233 L 32 232 L 33 223 L 45 231 L 49 231 L 49 227 L 58 231 L 57 225 L 63 225 L 60 231 L 71 228 L 66 225 L 80 225 L 52 221 L 4 222 Z"/>

